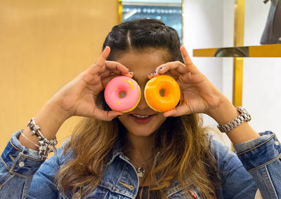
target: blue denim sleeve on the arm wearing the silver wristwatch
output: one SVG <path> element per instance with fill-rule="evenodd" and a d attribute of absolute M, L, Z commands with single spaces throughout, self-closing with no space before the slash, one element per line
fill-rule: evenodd
<path fill-rule="evenodd" d="M 263 199 L 281 198 L 281 144 L 271 131 L 260 135 L 258 139 L 234 145 L 234 148 Z"/>

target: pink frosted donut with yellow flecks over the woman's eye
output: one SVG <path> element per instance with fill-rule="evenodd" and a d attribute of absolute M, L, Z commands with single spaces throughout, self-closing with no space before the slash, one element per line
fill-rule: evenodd
<path fill-rule="evenodd" d="M 140 86 L 130 77 L 115 77 L 105 87 L 105 101 L 112 110 L 129 112 L 141 101 Z"/>

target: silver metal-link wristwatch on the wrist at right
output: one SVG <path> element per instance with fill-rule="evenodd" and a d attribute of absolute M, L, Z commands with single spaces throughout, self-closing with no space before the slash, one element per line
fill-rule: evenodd
<path fill-rule="evenodd" d="M 237 107 L 238 112 L 240 115 L 236 117 L 234 120 L 228 122 L 227 124 L 218 125 L 218 129 L 223 132 L 227 133 L 228 131 L 231 131 L 232 129 L 235 129 L 243 122 L 249 122 L 251 120 L 251 115 L 247 112 L 246 109 L 242 108 L 242 106 Z"/>

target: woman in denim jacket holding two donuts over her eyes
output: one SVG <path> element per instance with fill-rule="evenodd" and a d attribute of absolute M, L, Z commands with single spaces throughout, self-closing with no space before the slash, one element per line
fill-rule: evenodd
<path fill-rule="evenodd" d="M 176 79 L 181 102 L 158 113 L 145 102 L 143 89 L 148 79 L 162 74 Z M 106 84 L 118 75 L 141 87 L 141 101 L 129 113 L 110 110 L 103 97 Z M 197 113 L 222 126 L 247 116 L 227 132 L 244 167 L 235 153 L 208 136 Z M 46 150 L 39 148 L 44 140 L 31 134 L 39 132 L 34 122 L 50 140 L 73 115 L 85 119 L 57 155 L 40 160 Z M 248 117 L 197 70 L 173 28 L 158 20 L 122 23 L 107 35 L 96 64 L 55 94 L 24 131 L 13 134 L 1 155 L 0 196 L 254 198 L 259 186 L 263 198 L 276 198 L 281 195 L 280 146 L 272 132 L 251 129 Z M 51 151 L 52 145 L 45 146 Z"/>

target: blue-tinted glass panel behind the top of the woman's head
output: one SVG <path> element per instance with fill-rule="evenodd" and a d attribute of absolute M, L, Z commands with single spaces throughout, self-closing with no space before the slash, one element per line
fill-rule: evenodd
<path fill-rule="evenodd" d="M 122 22 L 136 18 L 162 20 L 167 26 L 173 27 L 182 41 L 182 7 L 180 1 L 122 1 Z"/>

